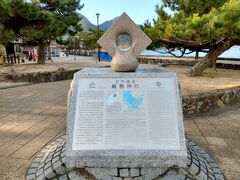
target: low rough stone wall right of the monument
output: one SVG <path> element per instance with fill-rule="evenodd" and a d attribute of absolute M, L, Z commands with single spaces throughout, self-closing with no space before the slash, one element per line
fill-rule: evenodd
<path fill-rule="evenodd" d="M 209 112 L 237 103 L 240 103 L 240 86 L 196 96 L 183 96 L 183 113 Z"/>

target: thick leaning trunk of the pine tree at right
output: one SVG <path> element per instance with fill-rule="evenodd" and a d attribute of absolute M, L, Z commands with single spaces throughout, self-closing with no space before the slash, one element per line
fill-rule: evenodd
<path fill-rule="evenodd" d="M 217 45 L 211 47 L 207 55 L 190 69 L 188 75 L 190 77 L 200 76 L 203 71 L 205 71 L 209 66 L 217 61 L 218 56 L 232 47 L 232 45 L 232 42 L 229 40 L 226 42 L 220 42 Z"/>

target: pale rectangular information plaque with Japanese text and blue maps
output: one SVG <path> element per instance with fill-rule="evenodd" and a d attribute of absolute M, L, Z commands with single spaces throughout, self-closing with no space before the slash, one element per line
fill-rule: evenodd
<path fill-rule="evenodd" d="M 78 80 L 72 150 L 180 150 L 173 78 Z"/>

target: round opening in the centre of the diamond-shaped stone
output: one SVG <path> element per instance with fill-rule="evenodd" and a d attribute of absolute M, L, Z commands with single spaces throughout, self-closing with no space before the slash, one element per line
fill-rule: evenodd
<path fill-rule="evenodd" d="M 120 51 L 128 51 L 132 47 L 132 38 L 129 34 L 122 33 L 118 35 L 116 44 Z"/>

